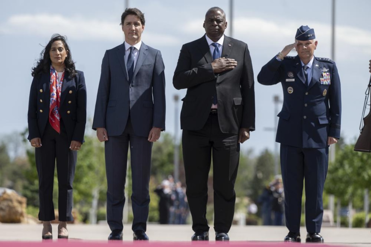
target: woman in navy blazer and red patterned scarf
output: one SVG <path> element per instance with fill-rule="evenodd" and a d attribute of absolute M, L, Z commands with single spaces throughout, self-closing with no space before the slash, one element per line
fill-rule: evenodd
<path fill-rule="evenodd" d="M 28 139 L 35 147 L 39 175 L 39 220 L 43 239 L 52 238 L 54 168 L 58 173 L 58 238 L 68 238 L 66 221 L 72 217 L 72 182 L 77 151 L 86 123 L 86 87 L 75 70 L 66 38 L 54 34 L 32 68 L 28 107 Z"/>

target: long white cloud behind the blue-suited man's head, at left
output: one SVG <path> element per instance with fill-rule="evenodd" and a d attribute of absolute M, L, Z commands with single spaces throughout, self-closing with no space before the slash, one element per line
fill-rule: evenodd
<path fill-rule="evenodd" d="M 83 19 L 81 17 L 65 17 L 51 14 L 16 14 L 0 24 L 0 34 L 33 34 L 50 37 L 60 33 L 78 40 L 122 40 L 121 27 L 112 21 Z M 177 37 L 169 34 L 143 33 L 151 44 L 179 44 Z"/>

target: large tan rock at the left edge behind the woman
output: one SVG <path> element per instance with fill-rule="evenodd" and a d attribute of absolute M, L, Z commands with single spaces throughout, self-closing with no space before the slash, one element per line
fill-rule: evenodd
<path fill-rule="evenodd" d="M 26 197 L 16 191 L 0 188 L 0 222 L 24 223 L 26 215 Z"/>

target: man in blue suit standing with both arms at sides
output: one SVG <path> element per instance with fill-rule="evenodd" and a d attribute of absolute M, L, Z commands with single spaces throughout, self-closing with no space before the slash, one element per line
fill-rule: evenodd
<path fill-rule="evenodd" d="M 102 61 L 93 129 L 105 141 L 109 240 L 122 240 L 129 146 L 134 240 L 148 240 L 151 151 L 165 129 L 165 76 L 160 51 L 141 41 L 144 21 L 140 10 L 126 9 L 121 16 L 125 42 L 107 50 Z"/>

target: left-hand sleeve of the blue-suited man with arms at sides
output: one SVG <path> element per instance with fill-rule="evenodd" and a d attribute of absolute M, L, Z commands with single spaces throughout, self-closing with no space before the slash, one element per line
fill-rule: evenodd
<path fill-rule="evenodd" d="M 102 60 L 101 79 L 99 80 L 98 93 L 96 96 L 95 111 L 93 118 L 93 130 L 106 127 L 106 111 L 109 99 L 111 74 L 109 73 L 108 51 Z"/>

